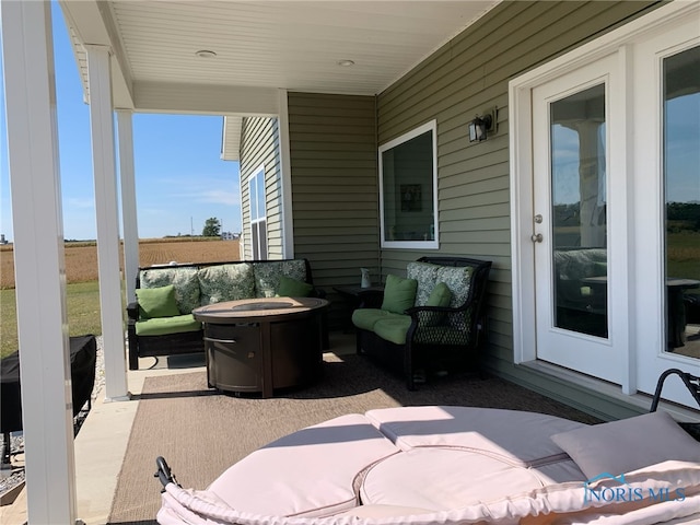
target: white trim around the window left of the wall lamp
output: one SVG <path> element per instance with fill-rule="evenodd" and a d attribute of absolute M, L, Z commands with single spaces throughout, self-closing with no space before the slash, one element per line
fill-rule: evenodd
<path fill-rule="evenodd" d="M 428 131 L 432 131 L 432 147 L 433 147 L 433 241 L 386 241 L 385 224 L 384 224 L 384 170 L 382 167 L 382 153 L 392 148 L 396 148 L 404 142 L 408 142 L 416 137 L 423 135 Z M 440 221 L 438 220 L 438 120 L 431 120 L 429 122 L 412 129 L 411 131 L 397 137 L 382 145 L 378 149 L 378 165 L 380 165 L 380 242 L 382 248 L 410 248 L 410 249 L 438 249 L 440 248 Z"/>

